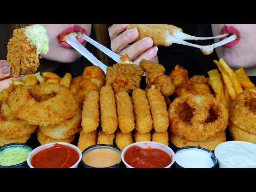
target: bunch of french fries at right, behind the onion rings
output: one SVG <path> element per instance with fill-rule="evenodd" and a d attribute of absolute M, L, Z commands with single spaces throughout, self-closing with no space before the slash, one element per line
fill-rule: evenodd
<path fill-rule="evenodd" d="M 247 76 L 244 68 L 231 69 L 223 58 L 213 60 L 218 69 L 208 71 L 207 82 L 212 87 L 215 97 L 229 109 L 237 95 L 245 90 L 256 92 L 255 85 Z M 219 73 L 220 71 L 220 73 Z"/>

